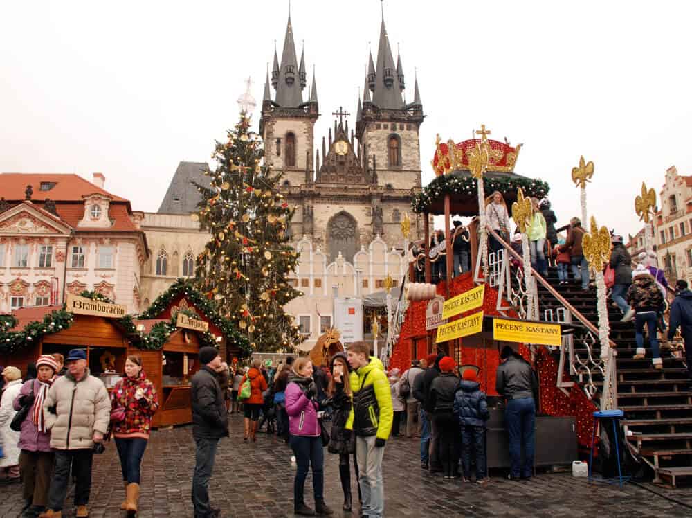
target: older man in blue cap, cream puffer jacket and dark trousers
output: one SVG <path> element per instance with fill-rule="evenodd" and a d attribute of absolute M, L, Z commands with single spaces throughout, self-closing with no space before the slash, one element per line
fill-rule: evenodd
<path fill-rule="evenodd" d="M 44 401 L 46 430 L 55 451 L 55 474 L 48 493 L 48 510 L 39 518 L 62 517 L 70 479 L 75 477 L 78 518 L 89 516 L 91 465 L 95 447 L 102 450 L 111 417 L 111 402 L 103 382 L 89 374 L 86 352 L 73 349 L 65 359 L 67 373 L 53 382 Z"/>

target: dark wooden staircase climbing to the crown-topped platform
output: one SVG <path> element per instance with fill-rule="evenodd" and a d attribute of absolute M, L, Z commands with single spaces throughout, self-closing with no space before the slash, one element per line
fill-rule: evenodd
<path fill-rule="evenodd" d="M 549 269 L 546 280 L 581 312 L 598 325 L 596 290 L 582 291 L 580 285 L 558 285 L 557 271 Z M 555 310 L 560 303 L 538 283 L 541 320 L 545 310 Z M 625 412 L 626 440 L 653 471 L 654 482 L 662 479 L 675 487 L 680 477 L 692 477 L 692 387 L 686 375 L 683 358 L 673 357 L 662 348 L 663 370 L 651 364 L 651 351 L 645 338 L 645 359 L 634 359 L 637 348 L 634 322 L 621 323 L 621 313 L 608 301 L 610 339 L 617 345 L 617 408 Z M 584 357 L 588 348 L 583 340 L 585 330 L 575 330 L 575 354 Z M 591 354 L 598 357 L 597 340 L 590 341 Z M 576 380 L 575 380 L 576 381 Z M 583 379 L 582 379 L 583 381 Z M 592 371 L 592 383 L 603 386 L 603 376 Z M 599 404 L 599 396 L 593 398 Z"/>

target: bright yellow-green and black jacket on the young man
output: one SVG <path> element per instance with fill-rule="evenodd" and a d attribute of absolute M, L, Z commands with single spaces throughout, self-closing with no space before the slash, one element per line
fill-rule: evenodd
<path fill-rule="evenodd" d="M 366 374 L 367 379 L 365 379 Z M 362 386 L 363 379 L 365 379 L 365 386 Z M 392 409 L 392 391 L 382 362 L 371 356 L 370 363 L 351 373 L 350 381 L 354 402 L 346 422 L 346 429 L 354 429 L 355 421 L 356 435 L 376 435 L 379 439 L 387 440 L 392 431 L 394 410 Z M 367 390 L 371 386 L 374 389 L 376 404 L 369 402 L 368 398 L 359 398 L 358 395 L 361 389 Z M 356 413 L 358 419 L 356 419 Z M 376 433 L 372 434 L 370 429 Z M 360 434 L 359 431 L 361 431 Z"/>

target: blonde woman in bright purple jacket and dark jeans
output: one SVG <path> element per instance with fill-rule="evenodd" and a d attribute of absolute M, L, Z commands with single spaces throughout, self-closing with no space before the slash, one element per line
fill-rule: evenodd
<path fill-rule="evenodd" d="M 324 496 L 325 453 L 322 449 L 320 422 L 317 414 L 319 404 L 315 400 L 317 386 L 312 379 L 312 373 L 312 362 L 308 358 L 295 360 L 285 392 L 291 448 L 298 464 L 293 482 L 293 508 L 296 515 L 331 515 L 333 511 L 327 507 Z M 312 465 L 315 510 L 305 504 L 303 497 L 305 479 L 310 465 Z"/>

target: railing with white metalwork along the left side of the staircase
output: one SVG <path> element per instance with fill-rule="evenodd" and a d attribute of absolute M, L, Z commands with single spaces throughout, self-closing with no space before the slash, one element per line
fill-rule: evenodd
<path fill-rule="evenodd" d="M 569 364 L 570 375 L 579 379 L 579 384 L 589 400 L 594 400 L 594 397 L 599 393 L 596 384 L 597 377 L 603 379 L 603 389 L 601 390 L 600 407 L 601 409 L 617 408 L 617 365 L 616 344 L 608 339 L 609 347 L 607 350 L 597 351 L 599 347 L 599 330 L 591 323 L 579 310 L 576 309 L 565 297 L 557 292 L 557 290 L 541 276 L 536 269 L 531 267 L 531 285 L 526 289 L 523 281 L 523 269 L 516 268 L 512 271 L 510 267 L 509 257 L 518 260 L 519 264 L 523 264 L 523 258 L 517 253 L 509 243 L 500 237 L 493 229 L 488 228 L 490 235 L 502 244 L 503 249 L 496 253 L 489 254 L 489 285 L 498 287 L 498 303 L 497 310 L 501 314 L 507 314 L 507 310 L 514 309 L 522 319 L 526 318 L 527 300 L 529 297 L 534 298 L 534 315 L 537 320 L 540 320 L 540 311 L 538 310 L 538 285 L 540 283 L 546 291 L 551 294 L 562 307 L 553 310 L 546 310 L 543 315 L 544 321 L 557 321 L 563 324 L 570 324 L 574 328 L 581 328 L 583 335 L 580 337 L 581 343 L 586 350 L 583 355 L 577 352 L 574 348 L 574 336 L 568 334 L 563 336 L 563 344 L 560 348 L 560 373 L 558 373 L 557 387 L 561 391 L 567 393 L 567 388 L 574 386 L 574 382 L 564 382 L 561 373 L 564 372 L 565 364 Z M 491 259 L 491 256 L 495 256 Z M 482 254 L 477 254 L 476 265 L 477 271 L 480 269 L 480 261 Z M 498 263 L 501 263 L 498 265 Z M 512 276 L 515 283 L 512 283 Z M 506 295 L 505 295 L 506 294 Z M 502 302 L 505 296 L 512 307 L 507 307 Z M 594 301 L 595 304 L 595 301 Z M 574 317 L 579 323 L 573 323 Z"/>

